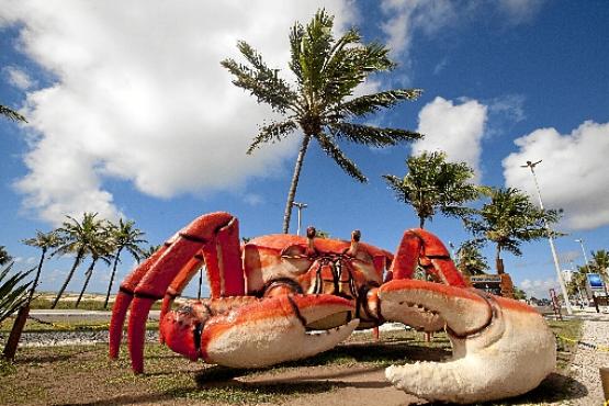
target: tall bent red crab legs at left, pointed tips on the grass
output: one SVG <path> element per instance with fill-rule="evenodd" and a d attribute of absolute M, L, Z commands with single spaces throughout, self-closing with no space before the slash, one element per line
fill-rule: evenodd
<path fill-rule="evenodd" d="M 132 366 L 135 372 L 143 372 L 145 324 L 150 307 L 154 302 L 163 297 L 177 275 L 188 275 L 192 272 L 199 263 L 199 260 L 193 258 L 201 250 L 206 256 L 215 255 L 215 261 L 207 262 L 212 294 L 244 294 L 245 282 L 236 218 L 222 212 L 201 216 L 171 238 L 165 248 L 136 268 L 121 284 L 111 322 L 111 358 L 119 353 L 122 326 L 131 303 L 127 334 Z M 215 263 L 211 266 L 211 262 Z"/>

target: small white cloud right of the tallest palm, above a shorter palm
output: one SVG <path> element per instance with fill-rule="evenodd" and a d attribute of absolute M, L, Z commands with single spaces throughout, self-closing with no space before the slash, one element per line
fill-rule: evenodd
<path fill-rule="evenodd" d="M 454 104 L 437 97 L 419 112 L 417 132 L 425 134 L 413 144 L 413 155 L 443 150 L 452 162 L 466 162 L 481 179 L 480 158 L 487 108 L 475 100 Z"/>

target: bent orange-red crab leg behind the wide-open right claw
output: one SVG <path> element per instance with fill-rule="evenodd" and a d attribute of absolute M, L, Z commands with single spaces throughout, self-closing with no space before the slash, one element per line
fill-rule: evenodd
<path fill-rule="evenodd" d="M 390 272 L 395 280 L 411 279 L 418 266 L 449 285 L 465 286 L 442 241 L 421 228 L 404 233 Z"/>

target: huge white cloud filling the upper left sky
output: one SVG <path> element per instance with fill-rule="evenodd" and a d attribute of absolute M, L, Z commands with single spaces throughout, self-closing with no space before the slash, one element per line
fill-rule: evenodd
<path fill-rule="evenodd" d="M 245 155 L 269 109 L 219 61 L 246 40 L 285 69 L 289 29 L 319 7 L 339 27 L 354 19 L 346 0 L 5 1 L 0 20 L 19 24 L 20 49 L 57 78 L 27 94 L 25 207 L 53 223 L 83 211 L 113 218 L 108 178 L 170 198 L 277 173 L 294 143 Z"/>

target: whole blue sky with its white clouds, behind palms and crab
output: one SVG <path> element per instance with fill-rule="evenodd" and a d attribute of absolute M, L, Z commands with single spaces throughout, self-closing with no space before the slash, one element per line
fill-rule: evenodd
<path fill-rule="evenodd" d="M 394 250 L 418 222 L 381 176 L 405 174 L 413 153 L 442 149 L 483 184 L 515 187 L 564 208 L 562 267 L 609 249 L 609 4 L 605 1 L 0 1 L 0 102 L 30 124 L 0 121 L 0 245 L 26 268 L 38 252 L 20 241 L 66 214 L 125 216 L 160 244 L 194 217 L 228 211 L 243 236 L 281 230 L 297 137 L 246 156 L 272 116 L 230 84 L 219 66 L 246 40 L 284 70 L 287 33 L 319 7 L 337 30 L 357 25 L 392 48 L 398 68 L 359 91 L 421 88 L 415 102 L 370 117 L 419 129 L 416 144 L 383 150 L 343 145 L 369 183 L 346 176 L 317 146 L 296 200 L 305 225 L 337 238 L 362 230 Z M 461 224 L 438 215 L 428 228 L 459 246 Z M 295 232 L 295 216 L 293 221 Z M 492 259 L 493 247 L 485 250 Z M 556 285 L 548 241 L 505 256 L 530 294 Z M 489 261 L 492 262 L 492 260 Z M 133 266 L 126 257 L 120 278 Z M 70 261 L 52 260 L 42 289 L 57 289 Z M 69 290 L 78 290 L 83 271 Z M 103 291 L 97 269 L 93 291 Z M 190 291 L 192 292 L 192 290 Z"/>

